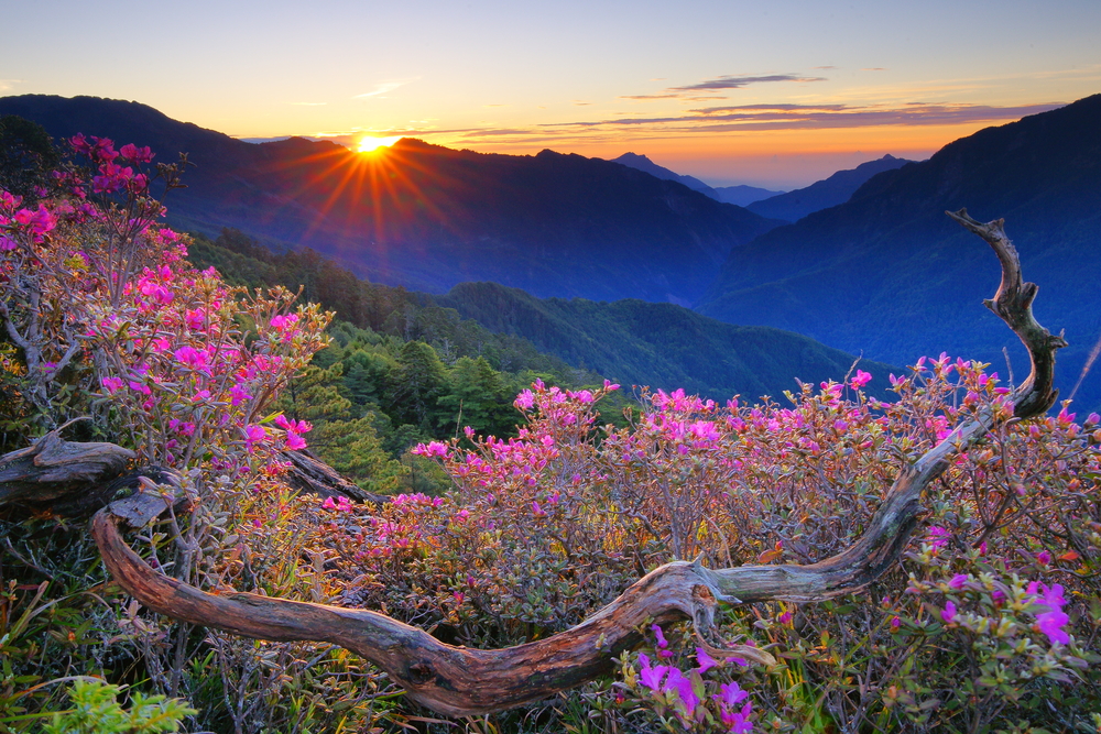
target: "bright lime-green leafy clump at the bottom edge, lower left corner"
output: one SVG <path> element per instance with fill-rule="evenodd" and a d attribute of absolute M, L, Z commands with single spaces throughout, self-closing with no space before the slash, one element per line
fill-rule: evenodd
<path fill-rule="evenodd" d="M 163 695 L 130 694 L 130 708 L 118 701 L 120 686 L 79 679 L 69 689 L 73 708 L 54 713 L 44 734 L 150 734 L 178 732 L 185 716 L 198 713 L 183 701 Z"/>

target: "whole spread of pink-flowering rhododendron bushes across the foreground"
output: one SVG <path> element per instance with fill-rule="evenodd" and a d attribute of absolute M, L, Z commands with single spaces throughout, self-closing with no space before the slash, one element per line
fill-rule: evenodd
<path fill-rule="evenodd" d="M 469 717 L 468 731 L 1101 726 L 1097 414 L 1064 404 L 1017 419 L 1013 385 L 945 354 L 756 403 L 640 390 L 622 415 L 600 415 L 620 385 L 539 381 L 516 397 L 514 438 L 467 429 L 415 449 L 450 478 L 439 496 L 292 497 L 277 452 L 301 449 L 309 425 L 270 406 L 323 347 L 326 317 L 285 291 L 243 293 L 190 267 L 150 194 L 176 172 L 145 173 L 146 149 L 73 144 L 90 173 L 59 174 L 33 206 L 0 201 L 2 316 L 18 348 L 6 366 L 28 438 L 88 414 L 138 462 L 181 474 L 189 505 L 140 536 L 150 565 L 207 589 L 374 610 L 469 648 L 538 643 L 671 561 L 814 568 L 865 536 L 904 470 L 955 441 L 901 562 L 860 591 L 741 603 L 699 587 L 718 606 L 713 627 L 650 618 L 603 677 Z M 870 397 L 872 381 L 895 397 Z M 967 442 L 960 427 L 977 421 L 991 428 Z M 70 650 L 72 666 L 110 672 L 130 645 L 157 692 L 200 710 L 199 727 L 454 727 L 425 715 L 396 673 L 340 648 L 171 626 L 137 602 L 98 624 L 96 651 Z M 13 723 L 3 705 L 0 724 Z"/>

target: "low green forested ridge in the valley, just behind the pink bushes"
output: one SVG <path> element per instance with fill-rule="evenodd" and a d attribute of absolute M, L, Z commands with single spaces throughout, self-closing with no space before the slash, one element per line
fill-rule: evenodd
<path fill-rule="evenodd" d="M 735 393 L 778 398 L 798 390 L 796 379 L 841 380 L 855 361 L 797 333 L 731 326 L 674 304 L 541 299 L 495 283 L 461 283 L 433 298 L 490 331 L 625 385 L 684 387 L 716 399 Z M 869 387 L 880 395 L 887 373 L 900 371 L 871 361 L 860 366 L 876 377 Z"/>

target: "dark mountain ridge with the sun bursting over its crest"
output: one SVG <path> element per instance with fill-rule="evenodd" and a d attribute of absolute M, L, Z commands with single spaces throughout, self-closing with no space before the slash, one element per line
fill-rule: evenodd
<path fill-rule="evenodd" d="M 372 155 L 301 138 L 246 143 L 140 105 L 0 98 L 0 113 L 177 151 L 194 164 L 170 222 L 307 245 L 372 281 L 443 292 L 495 281 L 542 296 L 689 304 L 732 248 L 775 227 L 679 183 L 599 158 L 490 155 L 404 139 Z"/>

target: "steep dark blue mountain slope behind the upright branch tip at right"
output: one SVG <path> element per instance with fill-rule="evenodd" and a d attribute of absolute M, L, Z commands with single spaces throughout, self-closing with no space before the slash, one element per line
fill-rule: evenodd
<path fill-rule="evenodd" d="M 963 207 L 1005 219 L 1025 277 L 1040 286 L 1037 318 L 1071 344 L 1059 352 L 1069 395 L 1101 336 L 1101 95 L 958 140 L 738 248 L 699 310 L 892 363 L 945 350 L 1003 377 L 1006 348 L 1021 380 L 1021 346 L 982 307 L 998 260 L 944 213 Z M 1101 406 L 1101 368 L 1078 401 Z"/>

